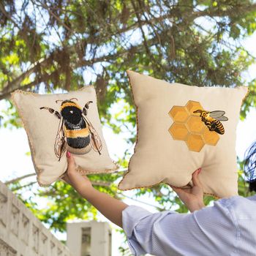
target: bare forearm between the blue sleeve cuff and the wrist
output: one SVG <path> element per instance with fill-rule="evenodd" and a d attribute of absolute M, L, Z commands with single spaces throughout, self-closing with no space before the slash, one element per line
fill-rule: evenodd
<path fill-rule="evenodd" d="M 124 208 L 127 208 L 128 205 L 126 203 L 117 200 L 106 193 L 99 192 L 97 189 L 94 189 L 94 187 L 85 187 L 78 192 L 111 222 L 119 227 L 123 226 L 122 211 Z"/>

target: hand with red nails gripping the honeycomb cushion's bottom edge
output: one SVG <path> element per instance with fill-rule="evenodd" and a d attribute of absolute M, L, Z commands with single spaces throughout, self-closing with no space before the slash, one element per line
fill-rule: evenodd
<path fill-rule="evenodd" d="M 189 211 L 193 212 L 205 207 L 203 203 L 203 186 L 199 180 L 199 173 L 201 168 L 195 170 L 192 175 L 193 187 L 188 189 L 181 189 L 170 186 L 175 191 L 181 201 L 187 206 Z"/>

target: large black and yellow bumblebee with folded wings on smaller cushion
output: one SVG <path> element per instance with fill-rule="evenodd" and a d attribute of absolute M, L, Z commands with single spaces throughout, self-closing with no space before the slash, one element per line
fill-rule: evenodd
<path fill-rule="evenodd" d="M 61 102 L 60 112 L 53 108 L 40 108 L 41 110 L 48 110 L 60 120 L 54 143 L 54 152 L 59 161 L 66 150 L 73 154 L 87 154 L 91 148 L 101 154 L 100 151 L 102 150 L 102 141 L 86 117 L 89 104 L 92 101 L 87 102 L 82 110 L 73 99 L 76 98 L 56 100 L 56 103 Z"/>

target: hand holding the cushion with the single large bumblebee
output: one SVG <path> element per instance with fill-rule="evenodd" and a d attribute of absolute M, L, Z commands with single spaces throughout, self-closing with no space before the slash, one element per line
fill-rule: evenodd
<path fill-rule="evenodd" d="M 62 179 L 75 188 L 81 195 L 86 188 L 91 188 L 91 181 L 87 176 L 82 176 L 75 170 L 75 158 L 67 151 L 67 173 Z"/>

